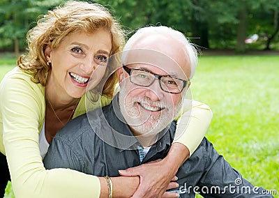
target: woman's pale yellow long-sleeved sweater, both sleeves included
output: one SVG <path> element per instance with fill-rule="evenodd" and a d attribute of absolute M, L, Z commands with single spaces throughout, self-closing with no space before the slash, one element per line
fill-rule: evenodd
<path fill-rule="evenodd" d="M 38 146 L 45 120 L 44 86 L 31 82 L 29 74 L 14 68 L 1 81 L 0 98 L 0 151 L 6 154 L 17 198 L 100 195 L 100 182 L 96 176 L 71 169 L 45 169 Z M 107 105 L 110 101 L 102 96 L 100 105 Z M 83 96 L 74 118 L 86 112 L 85 103 Z M 98 107 L 95 105 L 90 109 Z M 212 112 L 208 106 L 196 101 L 184 105 L 183 112 L 175 142 L 186 145 L 193 153 L 211 122 Z"/>

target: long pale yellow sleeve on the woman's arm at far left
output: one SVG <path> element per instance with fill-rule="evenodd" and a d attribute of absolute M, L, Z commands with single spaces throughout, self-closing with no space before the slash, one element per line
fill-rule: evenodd
<path fill-rule="evenodd" d="M 38 125 L 45 111 L 42 90 L 26 79 L 10 77 L 0 84 L 0 98 L 0 130 L 15 197 L 99 197 L 98 177 L 45 169 L 38 146 Z"/>

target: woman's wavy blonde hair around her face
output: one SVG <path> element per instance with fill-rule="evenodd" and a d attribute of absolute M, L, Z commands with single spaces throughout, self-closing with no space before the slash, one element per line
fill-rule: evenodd
<path fill-rule="evenodd" d="M 43 15 L 37 25 L 27 33 L 28 54 L 20 56 L 17 66 L 33 76 L 32 81 L 46 84 L 47 73 L 51 70 L 47 66 L 45 48 L 51 49 L 59 46 L 61 40 L 70 33 L 84 31 L 93 33 L 97 29 L 105 28 L 112 36 L 112 50 L 110 55 L 121 52 L 125 42 L 121 25 L 110 14 L 107 8 L 98 3 L 81 1 L 68 1 L 63 6 L 58 6 L 47 15 Z M 108 68 L 108 70 L 110 70 Z M 107 74 L 111 71 L 107 71 Z M 103 87 L 103 95 L 112 98 L 117 75 L 113 73 Z"/>

